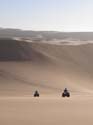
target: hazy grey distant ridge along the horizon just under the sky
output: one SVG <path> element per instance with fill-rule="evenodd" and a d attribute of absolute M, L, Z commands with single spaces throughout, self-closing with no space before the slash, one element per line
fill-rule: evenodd
<path fill-rule="evenodd" d="M 1 38 L 24 37 L 33 40 L 52 40 L 52 39 L 74 39 L 74 40 L 93 40 L 93 32 L 57 32 L 57 31 L 25 31 L 20 29 L 0 28 Z"/>

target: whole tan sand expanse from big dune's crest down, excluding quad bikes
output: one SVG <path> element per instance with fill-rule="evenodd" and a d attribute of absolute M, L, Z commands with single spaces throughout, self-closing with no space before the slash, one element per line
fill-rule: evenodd
<path fill-rule="evenodd" d="M 92 125 L 93 44 L 15 45 L 0 49 L 0 124 Z M 61 97 L 65 87 L 70 98 Z"/>

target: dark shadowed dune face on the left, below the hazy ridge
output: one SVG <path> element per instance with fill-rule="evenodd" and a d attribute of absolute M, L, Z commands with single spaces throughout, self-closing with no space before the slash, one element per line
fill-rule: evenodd
<path fill-rule="evenodd" d="M 32 48 L 31 43 L 13 39 L 0 39 L 0 61 L 43 61 L 44 55 Z"/>

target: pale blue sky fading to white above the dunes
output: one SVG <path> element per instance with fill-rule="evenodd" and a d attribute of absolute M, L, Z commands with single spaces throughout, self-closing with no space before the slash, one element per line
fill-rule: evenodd
<path fill-rule="evenodd" d="M 0 27 L 93 31 L 93 0 L 0 0 Z"/>

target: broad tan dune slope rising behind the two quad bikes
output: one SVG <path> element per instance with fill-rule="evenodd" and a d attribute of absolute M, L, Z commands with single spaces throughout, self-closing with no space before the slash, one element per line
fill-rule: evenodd
<path fill-rule="evenodd" d="M 42 94 L 55 94 L 64 87 L 73 94 L 92 93 L 93 44 L 59 46 L 22 41 L 19 44 L 12 40 L 11 46 L 6 46 L 6 53 L 4 44 L 0 47 L 2 45 L 0 51 L 7 60 L 0 62 L 0 95 L 32 95 L 36 89 Z M 9 49 L 11 47 L 15 49 Z M 17 52 L 20 61 L 15 56 L 8 58 L 10 50 L 14 55 Z"/>

